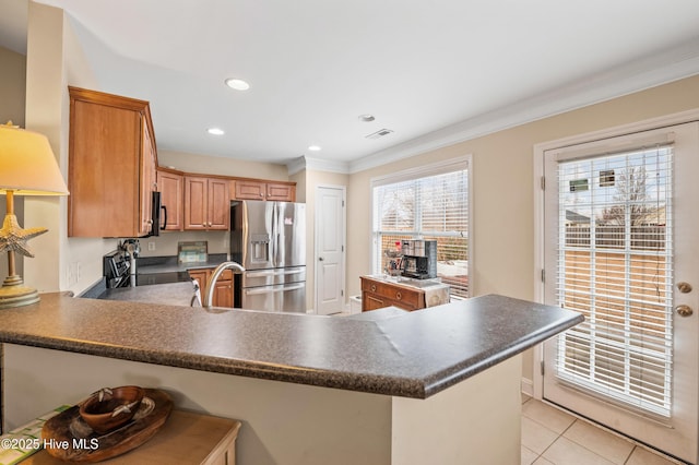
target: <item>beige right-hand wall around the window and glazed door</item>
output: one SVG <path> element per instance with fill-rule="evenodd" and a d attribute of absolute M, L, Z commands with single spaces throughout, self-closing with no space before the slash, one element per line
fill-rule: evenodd
<path fill-rule="evenodd" d="M 534 298 L 534 164 L 537 143 L 699 108 L 699 75 L 406 158 L 350 178 L 347 289 L 370 272 L 369 181 L 393 170 L 472 154 L 472 295 Z M 531 354 L 523 375 L 532 378 Z"/>

